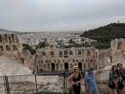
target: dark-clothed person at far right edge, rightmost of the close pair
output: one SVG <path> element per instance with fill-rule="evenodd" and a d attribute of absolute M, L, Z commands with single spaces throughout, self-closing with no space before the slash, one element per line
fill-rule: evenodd
<path fill-rule="evenodd" d="M 123 64 L 118 63 L 117 67 L 119 68 L 119 82 L 118 82 L 118 94 L 123 94 L 123 88 L 125 86 L 125 68 L 123 68 Z"/>

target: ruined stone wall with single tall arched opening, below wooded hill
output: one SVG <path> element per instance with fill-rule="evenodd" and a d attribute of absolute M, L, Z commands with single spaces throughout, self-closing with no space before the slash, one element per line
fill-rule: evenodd
<path fill-rule="evenodd" d="M 125 59 L 125 39 L 121 38 L 112 40 L 111 51 L 112 51 L 111 56 L 113 62 L 120 60 L 122 58 Z"/>

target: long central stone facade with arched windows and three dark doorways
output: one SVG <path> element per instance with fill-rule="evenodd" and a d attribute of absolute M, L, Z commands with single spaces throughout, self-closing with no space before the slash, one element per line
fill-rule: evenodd
<path fill-rule="evenodd" d="M 95 48 L 43 48 L 36 52 L 37 71 L 70 71 L 74 65 L 80 70 L 97 68 Z"/>

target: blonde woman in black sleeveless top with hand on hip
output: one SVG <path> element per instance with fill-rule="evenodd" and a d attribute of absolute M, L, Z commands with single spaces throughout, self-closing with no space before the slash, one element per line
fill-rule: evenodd
<path fill-rule="evenodd" d="M 82 79 L 82 74 L 78 69 L 78 66 L 75 65 L 73 67 L 73 73 L 67 78 L 67 81 L 72 85 L 74 94 L 80 94 L 81 92 L 81 84 L 80 81 Z"/>

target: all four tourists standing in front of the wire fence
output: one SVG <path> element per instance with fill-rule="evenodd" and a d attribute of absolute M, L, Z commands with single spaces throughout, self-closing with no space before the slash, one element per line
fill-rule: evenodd
<path fill-rule="evenodd" d="M 81 94 L 81 82 L 84 78 L 85 94 L 99 94 L 95 78 L 101 71 L 104 70 L 88 68 L 87 72 L 83 74 L 79 71 L 78 66 L 74 66 L 73 73 L 67 78 L 67 81 L 71 85 L 69 93 Z M 110 94 L 125 94 L 123 93 L 123 88 L 125 86 L 125 68 L 123 64 L 118 63 L 112 66 L 109 72 L 107 86 L 110 88 Z"/>

